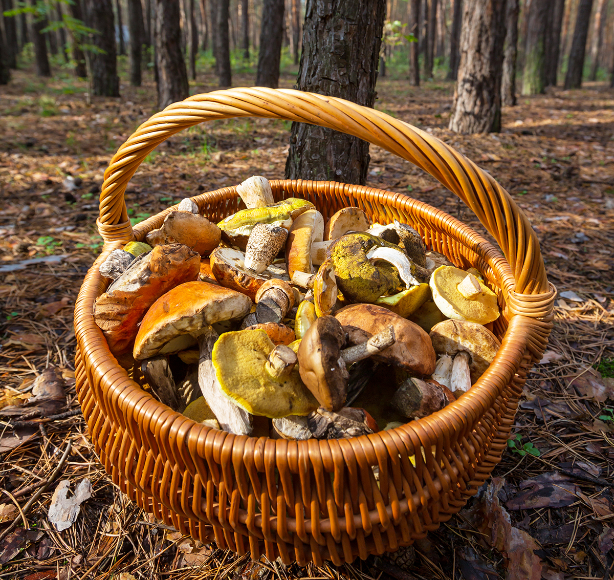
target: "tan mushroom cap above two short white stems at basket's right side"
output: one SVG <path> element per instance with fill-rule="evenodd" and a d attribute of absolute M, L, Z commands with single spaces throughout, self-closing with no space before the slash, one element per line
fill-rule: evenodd
<path fill-rule="evenodd" d="M 476 382 L 492 363 L 501 343 L 488 328 L 466 320 L 444 320 L 430 331 L 433 348 L 440 354 L 454 357 L 457 353 L 469 353 L 471 383 Z"/>

